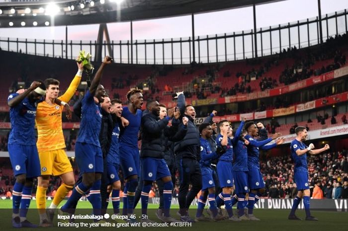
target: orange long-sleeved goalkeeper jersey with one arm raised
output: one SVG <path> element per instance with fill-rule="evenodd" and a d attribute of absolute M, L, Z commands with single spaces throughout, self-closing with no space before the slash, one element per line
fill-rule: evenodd
<path fill-rule="evenodd" d="M 67 91 L 58 98 L 69 102 L 75 94 L 81 81 L 81 76 L 75 76 Z M 37 105 L 35 123 L 37 127 L 38 152 L 65 149 L 65 140 L 62 129 L 63 106 L 58 104 L 50 105 L 43 101 Z"/>

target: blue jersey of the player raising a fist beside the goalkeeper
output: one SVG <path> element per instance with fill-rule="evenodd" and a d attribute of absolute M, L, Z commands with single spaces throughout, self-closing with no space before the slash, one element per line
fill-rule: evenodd
<path fill-rule="evenodd" d="M 99 133 L 102 118 L 100 110 L 100 105 L 94 102 L 94 97 L 88 90 L 84 99 L 82 100 L 80 132 L 77 142 L 100 147 Z"/>

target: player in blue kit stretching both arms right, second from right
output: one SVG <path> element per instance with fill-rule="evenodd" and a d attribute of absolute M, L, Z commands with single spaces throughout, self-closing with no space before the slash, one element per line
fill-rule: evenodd
<path fill-rule="evenodd" d="M 248 184 L 249 184 L 249 198 L 248 198 L 248 218 L 252 221 L 260 221 L 260 219 L 256 218 L 254 216 L 254 204 L 255 204 L 255 197 L 257 193 L 259 192 L 260 195 L 265 191 L 264 188 L 264 181 L 263 177 L 260 171 L 260 151 L 259 148 L 262 150 L 269 150 L 274 148 L 277 145 L 280 145 L 285 142 L 285 139 L 279 139 L 276 141 L 276 143 L 267 145 L 272 140 L 277 139 L 281 136 L 280 133 L 275 133 L 272 135 L 271 138 L 268 138 L 263 141 L 257 141 L 254 140 L 258 136 L 259 129 L 254 123 L 254 121 L 250 121 L 245 124 L 244 129 L 247 131 L 247 135 L 245 136 L 245 139 L 250 143 L 247 146 L 248 150 Z"/>

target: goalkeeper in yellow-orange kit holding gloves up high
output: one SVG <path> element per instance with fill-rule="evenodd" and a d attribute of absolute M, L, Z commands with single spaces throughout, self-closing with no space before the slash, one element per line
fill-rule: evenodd
<path fill-rule="evenodd" d="M 65 198 L 75 184 L 73 168 L 65 153 L 65 140 L 62 129 L 62 112 L 75 94 L 83 73 L 83 63 L 78 63 L 79 71 L 70 83 L 67 91 L 58 97 L 59 81 L 48 78 L 44 82 L 47 86 L 45 101 L 37 105 L 36 127 L 38 132 L 37 149 L 39 152 L 41 176 L 38 177 L 36 190 L 36 206 L 40 215 L 40 226 L 52 226 L 54 209 Z M 58 100 L 57 100 L 58 97 Z M 62 101 L 62 102 L 61 102 Z M 59 104 L 57 104 L 59 103 Z M 69 106 L 69 105 L 66 105 Z M 58 188 L 46 215 L 46 191 L 50 177 L 59 176 L 63 184 Z"/>

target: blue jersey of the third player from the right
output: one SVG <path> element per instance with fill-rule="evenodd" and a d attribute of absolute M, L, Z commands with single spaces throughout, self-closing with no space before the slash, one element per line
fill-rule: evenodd
<path fill-rule="evenodd" d="M 233 170 L 248 171 L 248 150 L 241 140 L 238 140 L 233 146 Z"/>

